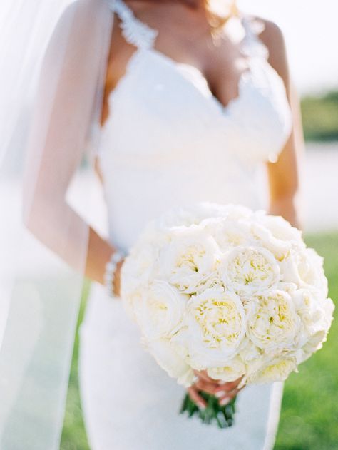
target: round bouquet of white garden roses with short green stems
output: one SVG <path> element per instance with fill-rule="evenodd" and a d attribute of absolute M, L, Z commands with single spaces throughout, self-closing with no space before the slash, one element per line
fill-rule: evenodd
<path fill-rule="evenodd" d="M 322 258 L 301 232 L 235 205 L 200 203 L 150 223 L 121 283 L 144 347 L 185 387 L 194 369 L 222 382 L 287 379 L 322 347 L 334 310 Z M 231 425 L 234 402 L 211 397 L 208 417 L 188 397 L 182 410 Z"/>

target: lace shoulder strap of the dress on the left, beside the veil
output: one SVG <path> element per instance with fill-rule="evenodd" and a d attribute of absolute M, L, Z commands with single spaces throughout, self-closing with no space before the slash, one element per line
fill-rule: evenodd
<path fill-rule="evenodd" d="M 138 48 L 152 48 L 158 31 L 150 28 L 140 21 L 123 0 L 111 0 L 108 2 L 112 11 L 115 11 L 121 20 L 123 37 L 129 44 Z"/>

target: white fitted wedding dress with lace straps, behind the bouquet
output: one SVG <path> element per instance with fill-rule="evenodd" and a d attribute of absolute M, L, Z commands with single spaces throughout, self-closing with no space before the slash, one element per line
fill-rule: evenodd
<path fill-rule="evenodd" d="M 257 172 L 282 149 L 291 114 L 254 19 L 238 20 L 250 71 L 237 98 L 222 106 L 198 69 L 155 50 L 157 32 L 123 1 L 112 9 L 137 47 L 109 98 L 98 149 L 113 245 L 128 252 L 150 219 L 178 205 L 260 208 Z M 185 390 L 140 347 L 122 302 L 95 283 L 81 325 L 79 375 L 92 450 L 272 449 L 282 384 L 240 392 L 231 429 L 178 414 Z"/>

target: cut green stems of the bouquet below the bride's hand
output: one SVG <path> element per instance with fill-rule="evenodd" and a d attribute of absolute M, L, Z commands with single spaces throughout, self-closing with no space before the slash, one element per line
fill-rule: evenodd
<path fill-rule="evenodd" d="M 217 424 L 219 428 L 228 428 L 232 426 L 235 415 L 235 402 L 236 397 L 233 398 L 230 403 L 221 406 L 217 397 L 206 392 L 200 391 L 200 396 L 205 399 L 207 406 L 205 409 L 200 409 L 189 394 L 185 395 L 183 403 L 180 409 L 180 414 L 184 414 L 185 411 L 189 417 L 197 415 L 203 424 Z"/>

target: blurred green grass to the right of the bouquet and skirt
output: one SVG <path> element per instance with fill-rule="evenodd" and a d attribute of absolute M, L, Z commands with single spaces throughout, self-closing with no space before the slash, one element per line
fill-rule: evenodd
<path fill-rule="evenodd" d="M 338 235 L 309 236 L 307 244 L 325 257 L 329 295 L 337 304 Z M 337 342 L 335 320 L 323 349 L 285 383 L 275 450 L 338 450 Z"/>

